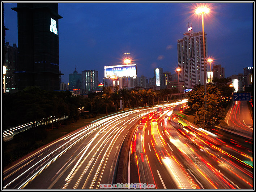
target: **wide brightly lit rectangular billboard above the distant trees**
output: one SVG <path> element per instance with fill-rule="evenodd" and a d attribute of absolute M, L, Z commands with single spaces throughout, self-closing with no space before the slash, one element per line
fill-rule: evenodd
<path fill-rule="evenodd" d="M 136 64 L 104 66 L 104 78 L 136 77 Z"/>

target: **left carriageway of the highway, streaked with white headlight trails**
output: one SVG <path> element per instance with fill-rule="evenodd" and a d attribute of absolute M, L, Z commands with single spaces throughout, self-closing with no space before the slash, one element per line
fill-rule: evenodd
<path fill-rule="evenodd" d="M 3 189 L 97 189 L 112 184 L 118 155 L 144 108 L 120 113 L 41 147 L 3 172 Z"/>

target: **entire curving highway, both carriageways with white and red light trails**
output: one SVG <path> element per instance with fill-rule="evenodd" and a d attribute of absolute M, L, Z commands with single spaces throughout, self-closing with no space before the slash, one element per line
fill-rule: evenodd
<path fill-rule="evenodd" d="M 5 169 L 3 189 L 109 188 L 102 184 L 120 180 L 116 170 L 123 149 L 128 150 L 124 183 L 252 189 L 252 141 L 196 127 L 180 113 L 183 104 L 120 113 L 67 134 Z M 131 140 L 123 145 L 129 134 Z"/>

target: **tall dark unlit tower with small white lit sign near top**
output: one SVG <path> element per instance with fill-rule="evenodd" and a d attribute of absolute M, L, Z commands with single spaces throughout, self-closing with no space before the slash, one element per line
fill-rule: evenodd
<path fill-rule="evenodd" d="M 17 3 L 17 86 L 59 90 L 59 22 L 57 3 Z"/>

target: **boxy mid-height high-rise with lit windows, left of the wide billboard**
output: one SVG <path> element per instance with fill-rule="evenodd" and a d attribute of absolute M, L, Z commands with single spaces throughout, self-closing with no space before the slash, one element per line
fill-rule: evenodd
<path fill-rule="evenodd" d="M 96 70 L 82 71 L 82 89 L 86 93 L 91 93 L 93 90 L 98 89 L 99 85 L 99 72 Z"/>

